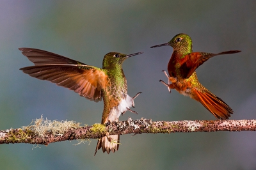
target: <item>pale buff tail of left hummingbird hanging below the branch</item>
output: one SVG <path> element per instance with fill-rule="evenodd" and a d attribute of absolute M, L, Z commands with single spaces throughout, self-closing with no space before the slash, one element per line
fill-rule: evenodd
<path fill-rule="evenodd" d="M 109 139 L 111 139 L 111 141 L 108 140 L 108 137 Z M 99 150 L 100 148 L 102 148 L 103 153 L 107 151 L 108 154 L 110 151 L 115 152 L 118 150 L 120 135 L 108 135 L 108 137 L 104 136 L 98 140 L 94 156 L 96 155 L 97 150 Z"/>

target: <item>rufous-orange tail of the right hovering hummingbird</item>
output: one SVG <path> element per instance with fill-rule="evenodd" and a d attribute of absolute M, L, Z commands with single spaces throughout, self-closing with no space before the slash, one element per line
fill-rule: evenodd
<path fill-rule="evenodd" d="M 203 92 L 193 89 L 192 98 L 200 102 L 210 111 L 218 120 L 226 120 L 233 113 L 233 110 L 221 98 L 216 97 L 211 91 Z"/>

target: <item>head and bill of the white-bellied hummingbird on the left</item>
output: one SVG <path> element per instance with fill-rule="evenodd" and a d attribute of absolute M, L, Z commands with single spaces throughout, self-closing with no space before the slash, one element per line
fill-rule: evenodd
<path fill-rule="evenodd" d="M 116 66 L 122 66 L 125 59 L 130 58 L 132 56 L 136 56 L 138 54 L 142 54 L 143 52 L 137 52 L 134 54 L 122 54 L 120 52 L 109 52 L 104 56 L 103 62 L 102 62 L 102 68 L 116 68 Z"/>

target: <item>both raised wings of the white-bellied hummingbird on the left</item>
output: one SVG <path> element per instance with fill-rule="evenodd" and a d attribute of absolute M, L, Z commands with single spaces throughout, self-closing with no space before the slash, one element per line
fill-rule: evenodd
<path fill-rule="evenodd" d="M 106 70 L 39 49 L 20 48 L 35 66 L 20 68 L 31 77 L 51 81 L 98 102 L 109 85 Z"/>

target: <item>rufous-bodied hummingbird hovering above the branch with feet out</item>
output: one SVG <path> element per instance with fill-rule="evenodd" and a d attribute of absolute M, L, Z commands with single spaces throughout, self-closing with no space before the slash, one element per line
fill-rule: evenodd
<path fill-rule="evenodd" d="M 221 98 L 216 97 L 216 95 L 200 84 L 195 70 L 214 56 L 234 54 L 241 52 L 241 50 L 229 50 L 217 54 L 193 52 L 191 38 L 183 33 L 175 35 L 168 43 L 154 45 L 151 48 L 165 45 L 173 47 L 172 57 L 167 67 L 169 75 L 163 71 L 166 77 L 168 77 L 168 83 L 162 80 L 159 81 L 167 86 L 170 92 L 171 89 L 176 89 L 180 94 L 200 102 L 215 118 L 219 120 L 228 119 L 233 110 Z"/>

